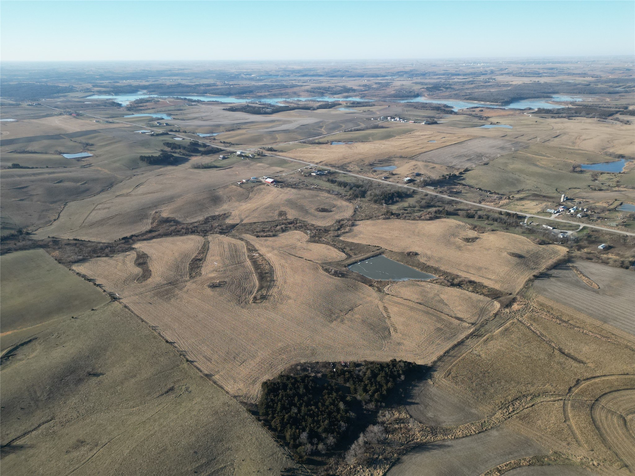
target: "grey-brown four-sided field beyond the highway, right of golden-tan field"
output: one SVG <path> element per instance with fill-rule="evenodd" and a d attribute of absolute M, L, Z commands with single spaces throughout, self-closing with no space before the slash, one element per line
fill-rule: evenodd
<path fill-rule="evenodd" d="M 464 169 L 485 164 L 499 155 L 509 154 L 521 147 L 526 147 L 526 144 L 492 137 L 478 137 L 424 152 L 415 158 L 419 161 Z"/>

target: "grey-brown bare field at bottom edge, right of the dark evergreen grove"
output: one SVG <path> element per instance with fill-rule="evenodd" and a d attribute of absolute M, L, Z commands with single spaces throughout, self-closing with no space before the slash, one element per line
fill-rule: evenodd
<path fill-rule="evenodd" d="M 474 476 L 512 459 L 545 453 L 535 441 L 503 426 L 413 449 L 387 476 Z"/>

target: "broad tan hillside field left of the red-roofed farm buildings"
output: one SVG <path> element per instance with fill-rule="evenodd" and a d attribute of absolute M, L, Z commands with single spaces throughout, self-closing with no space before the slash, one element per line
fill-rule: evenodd
<path fill-rule="evenodd" d="M 228 185 L 279 171 L 281 168 L 253 161 L 225 169 L 192 169 L 189 164 L 156 169 L 117 183 L 94 197 L 70 202 L 60 217 L 37 230 L 36 236 L 114 241 L 147 230 L 150 217 L 159 210 L 164 216 L 196 221 L 249 196 Z"/>

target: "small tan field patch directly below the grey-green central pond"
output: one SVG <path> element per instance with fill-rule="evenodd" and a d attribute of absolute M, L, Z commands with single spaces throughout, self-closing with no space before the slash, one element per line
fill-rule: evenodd
<path fill-rule="evenodd" d="M 385 291 L 470 323 L 476 322 L 479 317 L 488 317 L 499 307 L 496 301 L 479 294 L 423 281 L 396 282 L 387 286 Z"/>

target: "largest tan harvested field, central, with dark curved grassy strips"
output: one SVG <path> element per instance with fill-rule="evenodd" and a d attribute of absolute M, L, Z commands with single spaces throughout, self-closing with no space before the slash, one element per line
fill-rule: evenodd
<path fill-rule="evenodd" d="M 137 244 L 152 271 L 144 282 L 136 281 L 141 270 L 134 252 L 75 268 L 119 293 L 203 373 L 246 400 L 257 397 L 262 381 L 297 362 L 424 363 L 469 329 L 430 308 L 326 274 L 308 258 L 338 258 L 337 251 L 306 243 L 302 234 L 211 235 L 201 275 L 189 279 L 188 264 L 201 246 L 198 236 Z M 253 302 L 262 284 L 259 266 L 271 270 L 271 279 Z"/>

